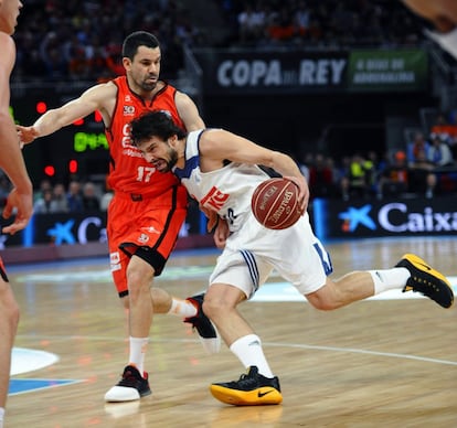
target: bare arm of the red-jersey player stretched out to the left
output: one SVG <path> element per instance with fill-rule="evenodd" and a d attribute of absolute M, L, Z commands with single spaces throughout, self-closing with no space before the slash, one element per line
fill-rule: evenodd
<path fill-rule="evenodd" d="M 109 126 L 116 90 L 117 88 L 113 83 L 93 86 L 84 92 L 79 98 L 73 99 L 60 108 L 46 111 L 31 127 L 18 126 L 21 142 L 29 143 L 35 138 L 53 133 L 95 110 L 102 113 L 105 125 Z"/>

